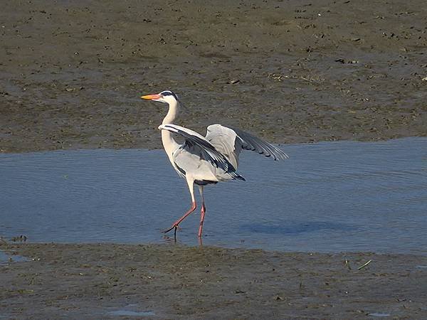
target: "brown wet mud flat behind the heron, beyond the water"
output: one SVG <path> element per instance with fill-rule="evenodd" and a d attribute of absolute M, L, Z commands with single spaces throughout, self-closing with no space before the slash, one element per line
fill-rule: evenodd
<path fill-rule="evenodd" d="M 427 135 L 425 1 L 16 1 L 0 13 L 0 151 L 158 148 L 179 124 L 271 142 Z M 424 79 L 424 80 L 423 80 Z"/>

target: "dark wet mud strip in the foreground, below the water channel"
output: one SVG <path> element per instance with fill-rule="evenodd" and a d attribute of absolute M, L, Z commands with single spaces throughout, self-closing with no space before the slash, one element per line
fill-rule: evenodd
<path fill-rule="evenodd" d="M 6 318 L 427 316 L 425 256 L 172 244 L 3 243 L 0 249 L 29 258 L 0 265 Z"/>

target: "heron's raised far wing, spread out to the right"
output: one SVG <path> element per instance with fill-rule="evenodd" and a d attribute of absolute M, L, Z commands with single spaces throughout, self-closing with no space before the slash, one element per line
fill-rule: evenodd
<path fill-rule="evenodd" d="M 218 151 L 228 157 L 231 164 L 238 164 L 241 149 L 256 151 L 264 156 L 271 156 L 274 160 L 288 159 L 288 155 L 277 147 L 254 137 L 241 129 L 223 127 L 221 124 L 212 124 L 208 127 L 206 140 L 211 142 Z"/>

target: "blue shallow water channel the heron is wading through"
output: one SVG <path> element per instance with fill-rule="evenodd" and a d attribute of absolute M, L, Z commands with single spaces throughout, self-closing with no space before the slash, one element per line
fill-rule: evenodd
<path fill-rule="evenodd" d="M 427 253 L 427 138 L 283 149 L 244 153 L 246 182 L 206 188 L 204 245 Z M 165 242 L 190 204 L 162 150 L 1 154 L 0 179 L 0 235 L 31 242 Z M 179 242 L 196 245 L 198 224 Z"/>

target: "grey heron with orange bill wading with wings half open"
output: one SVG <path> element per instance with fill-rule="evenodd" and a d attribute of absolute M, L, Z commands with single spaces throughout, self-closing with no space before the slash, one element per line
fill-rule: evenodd
<path fill-rule="evenodd" d="M 274 160 L 288 158 L 282 150 L 240 129 L 212 124 L 207 128 L 206 137 L 203 137 L 193 130 L 173 124 L 178 114 L 179 99 L 170 90 L 162 91 L 156 95 L 143 95 L 142 99 L 164 102 L 169 105 L 169 111 L 159 126 L 162 131 L 162 143 L 172 166 L 179 176 L 186 179 L 191 194 L 191 208 L 176 220 L 171 228 L 164 230 L 164 233 L 174 229 L 176 235 L 179 223 L 196 210 L 194 198 L 194 184 L 196 184 L 199 186 L 201 196 L 198 233 L 199 238 L 201 238 L 206 213 L 204 186 L 219 181 L 244 181 L 245 178 L 236 171 L 238 157 L 243 149 L 256 151 L 258 154 L 263 154 Z M 184 137 L 184 143 L 178 144 L 174 139 L 174 134 Z"/>

